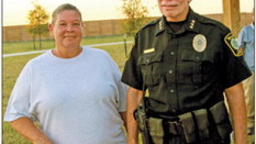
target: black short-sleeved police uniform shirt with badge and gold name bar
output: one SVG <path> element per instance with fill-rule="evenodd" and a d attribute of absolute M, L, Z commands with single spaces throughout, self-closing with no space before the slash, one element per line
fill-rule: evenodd
<path fill-rule="evenodd" d="M 147 88 L 152 99 L 147 107 L 157 113 L 210 108 L 224 99 L 225 89 L 251 75 L 231 40 L 229 28 L 192 9 L 175 33 L 163 16 L 137 33 L 122 81 Z M 205 49 L 198 50 L 201 43 Z"/>

